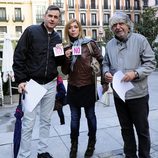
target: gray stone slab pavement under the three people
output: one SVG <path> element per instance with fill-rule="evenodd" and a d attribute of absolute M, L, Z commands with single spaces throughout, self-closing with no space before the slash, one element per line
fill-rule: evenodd
<path fill-rule="evenodd" d="M 151 157 L 158 158 L 158 72 L 155 71 L 149 77 L 150 91 L 150 133 L 151 133 Z M 103 99 L 102 99 L 103 101 Z M 16 104 L 0 107 L 0 158 L 13 158 L 13 129 L 14 112 Z M 69 106 L 64 106 L 65 125 L 60 125 L 57 112 L 53 113 L 52 126 L 49 137 L 49 152 L 54 158 L 68 158 L 70 149 L 70 110 Z M 92 158 L 123 158 L 123 141 L 120 134 L 120 126 L 115 112 L 112 95 L 110 96 L 110 106 L 98 102 L 96 105 L 97 115 L 97 143 L 96 150 Z M 36 158 L 38 141 L 37 117 L 32 140 L 31 158 Z M 80 137 L 78 158 L 84 157 L 87 146 L 87 122 L 84 111 L 82 111 L 80 124 Z"/>

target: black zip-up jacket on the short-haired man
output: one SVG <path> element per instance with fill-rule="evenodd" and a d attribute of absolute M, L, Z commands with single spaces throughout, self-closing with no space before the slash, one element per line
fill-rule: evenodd
<path fill-rule="evenodd" d="M 44 24 L 31 25 L 22 34 L 14 52 L 13 70 L 17 83 L 30 79 L 40 84 L 52 81 L 64 56 L 54 57 L 53 47 L 62 43 L 59 34 L 48 35 Z"/>

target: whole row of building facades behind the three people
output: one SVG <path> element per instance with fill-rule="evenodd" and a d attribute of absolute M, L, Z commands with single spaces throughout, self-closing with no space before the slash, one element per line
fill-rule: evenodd
<path fill-rule="evenodd" d="M 18 39 L 25 28 L 40 24 L 48 5 L 61 9 L 61 22 L 56 27 L 61 37 L 64 26 L 72 18 L 78 19 L 86 36 L 95 40 L 103 36 L 109 18 L 115 11 L 125 11 L 137 23 L 143 10 L 143 0 L 0 0 L 0 34 L 10 33 Z M 1 36 L 1 37 L 2 37 Z"/>

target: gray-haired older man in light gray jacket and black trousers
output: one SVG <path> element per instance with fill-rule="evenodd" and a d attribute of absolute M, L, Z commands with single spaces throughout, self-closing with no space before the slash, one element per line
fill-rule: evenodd
<path fill-rule="evenodd" d="M 105 82 L 112 83 L 113 75 L 120 70 L 124 73 L 122 82 L 131 82 L 134 86 L 127 91 L 125 102 L 114 90 L 114 103 L 121 125 L 124 154 L 126 158 L 150 158 L 147 80 L 156 66 L 155 55 L 147 39 L 131 31 L 132 23 L 125 13 L 114 13 L 109 25 L 114 37 L 106 45 L 102 69 Z"/>

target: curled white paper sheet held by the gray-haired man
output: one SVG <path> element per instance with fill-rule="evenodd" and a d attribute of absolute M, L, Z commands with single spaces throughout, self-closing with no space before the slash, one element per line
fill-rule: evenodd
<path fill-rule="evenodd" d="M 128 90 L 132 89 L 134 86 L 131 82 L 122 82 L 124 74 L 118 71 L 113 76 L 113 88 L 119 97 L 125 102 L 125 94 Z"/>

